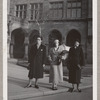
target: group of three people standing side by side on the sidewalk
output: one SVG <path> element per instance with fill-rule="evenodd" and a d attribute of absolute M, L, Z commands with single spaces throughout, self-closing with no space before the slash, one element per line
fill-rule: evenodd
<path fill-rule="evenodd" d="M 62 49 L 59 46 L 59 40 L 54 40 L 54 47 L 49 51 L 49 61 L 50 61 L 50 78 L 49 82 L 52 83 L 52 89 L 57 90 L 57 85 L 59 82 L 63 82 L 63 67 L 62 60 L 59 59 L 59 55 Z M 38 36 L 36 44 L 33 45 L 29 52 L 29 83 L 26 87 L 32 87 L 32 79 L 35 78 L 35 88 L 39 88 L 38 79 L 43 78 L 43 67 L 45 66 L 46 60 L 46 47 L 42 44 L 42 37 Z M 80 79 L 81 79 L 81 69 L 84 66 L 84 55 L 82 47 L 78 40 L 75 41 L 74 47 L 69 50 L 67 65 L 69 70 L 69 83 L 72 84 L 72 88 L 69 90 L 71 92 L 75 89 L 75 84 L 77 85 L 78 92 Z"/>

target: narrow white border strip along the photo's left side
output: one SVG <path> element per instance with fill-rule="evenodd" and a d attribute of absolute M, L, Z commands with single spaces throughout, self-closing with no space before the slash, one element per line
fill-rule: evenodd
<path fill-rule="evenodd" d="M 7 0 L 3 0 L 3 100 L 8 99 L 7 93 Z"/>

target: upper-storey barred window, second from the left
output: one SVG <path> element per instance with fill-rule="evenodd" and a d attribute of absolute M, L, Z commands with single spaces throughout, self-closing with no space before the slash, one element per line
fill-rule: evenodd
<path fill-rule="evenodd" d="M 42 3 L 34 3 L 31 4 L 31 20 L 41 20 L 43 13 L 43 4 Z"/>

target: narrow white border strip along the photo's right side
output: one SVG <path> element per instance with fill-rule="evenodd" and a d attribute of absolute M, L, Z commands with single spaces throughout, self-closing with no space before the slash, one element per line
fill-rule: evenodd
<path fill-rule="evenodd" d="M 93 0 L 93 100 L 97 100 L 97 0 Z"/>

